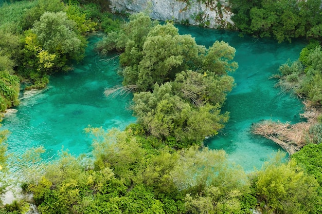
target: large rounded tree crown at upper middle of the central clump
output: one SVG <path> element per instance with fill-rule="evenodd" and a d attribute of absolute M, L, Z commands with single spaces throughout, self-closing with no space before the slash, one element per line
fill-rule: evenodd
<path fill-rule="evenodd" d="M 128 81 L 128 73 L 123 74 L 124 81 L 135 83 L 140 91 L 151 90 L 155 83 L 162 84 L 173 80 L 176 73 L 193 68 L 193 62 L 198 57 L 198 46 L 190 35 L 163 35 L 163 31 L 167 30 L 162 28 L 173 28 L 177 31 L 172 24 L 155 28 L 157 29 L 153 30 L 160 34 L 148 35 L 143 47 L 143 57 L 137 68 L 137 80 Z"/>

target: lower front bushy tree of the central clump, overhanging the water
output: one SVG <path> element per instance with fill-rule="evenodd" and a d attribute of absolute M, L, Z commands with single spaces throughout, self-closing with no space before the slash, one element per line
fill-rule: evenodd
<path fill-rule="evenodd" d="M 174 137 L 174 144 L 169 146 L 176 148 L 200 143 L 217 134 L 228 119 L 227 114 L 220 114 L 218 105 L 191 106 L 173 94 L 171 83 L 156 84 L 153 92 L 136 93 L 133 101 L 134 114 L 147 133 L 162 140 Z"/>

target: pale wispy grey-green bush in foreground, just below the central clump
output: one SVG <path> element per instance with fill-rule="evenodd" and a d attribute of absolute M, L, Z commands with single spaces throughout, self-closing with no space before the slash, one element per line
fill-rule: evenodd
<path fill-rule="evenodd" d="M 244 171 L 228 163 L 225 151 L 190 147 L 179 153 L 180 158 L 172 171 L 178 189 L 196 194 L 210 186 L 219 188 L 222 194 L 235 189 L 247 191 L 248 181 Z"/>

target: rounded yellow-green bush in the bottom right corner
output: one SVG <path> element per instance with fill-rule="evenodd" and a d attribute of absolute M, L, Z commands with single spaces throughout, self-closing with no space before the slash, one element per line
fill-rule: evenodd
<path fill-rule="evenodd" d="M 281 158 L 277 156 L 277 158 Z M 266 164 L 253 180 L 257 199 L 268 213 L 312 213 L 319 202 L 319 187 L 294 161 Z"/>

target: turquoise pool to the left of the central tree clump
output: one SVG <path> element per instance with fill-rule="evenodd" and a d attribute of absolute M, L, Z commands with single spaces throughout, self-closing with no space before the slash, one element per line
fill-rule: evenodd
<path fill-rule="evenodd" d="M 47 91 L 22 100 L 17 114 L 4 119 L 2 128 L 11 132 L 9 152 L 21 154 L 42 145 L 48 158 L 62 147 L 76 155 L 87 153 L 92 150 L 92 140 L 84 133 L 88 125 L 123 129 L 136 121 L 127 108 L 130 95 L 107 99 L 103 94 L 104 88 L 121 85 L 121 79 L 118 61 L 103 62 L 94 53 L 97 41 L 90 38 L 87 56 L 74 71 L 52 76 Z"/>

